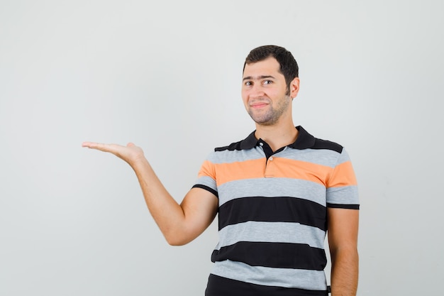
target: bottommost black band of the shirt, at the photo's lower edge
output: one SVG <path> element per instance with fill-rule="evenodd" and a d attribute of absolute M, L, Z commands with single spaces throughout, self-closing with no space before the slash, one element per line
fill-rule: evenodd
<path fill-rule="evenodd" d="M 218 275 L 210 275 L 205 296 L 327 296 L 327 291 L 305 290 L 244 283 Z"/>

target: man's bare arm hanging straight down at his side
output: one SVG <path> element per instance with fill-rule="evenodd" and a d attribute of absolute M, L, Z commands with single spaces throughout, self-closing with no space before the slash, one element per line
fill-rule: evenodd
<path fill-rule="evenodd" d="M 357 253 L 358 224 L 358 210 L 328 209 L 332 296 L 356 295 L 359 263 Z"/>

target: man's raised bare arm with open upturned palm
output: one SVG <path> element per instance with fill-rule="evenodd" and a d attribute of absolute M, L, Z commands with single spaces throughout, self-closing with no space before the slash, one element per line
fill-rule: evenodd
<path fill-rule="evenodd" d="M 143 150 L 133 143 L 127 146 L 101 143 L 82 143 L 83 147 L 112 153 L 131 165 L 138 177 L 148 209 L 168 243 L 184 245 L 196 239 L 216 216 L 218 199 L 201 188 L 193 188 L 181 204 L 160 182 Z"/>

